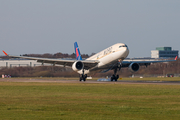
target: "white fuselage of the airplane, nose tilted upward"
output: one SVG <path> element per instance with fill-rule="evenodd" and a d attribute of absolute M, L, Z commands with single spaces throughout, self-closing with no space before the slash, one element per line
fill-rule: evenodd
<path fill-rule="evenodd" d="M 98 69 L 108 69 L 110 66 L 123 61 L 129 54 L 128 47 L 123 43 L 112 45 L 103 51 L 87 58 L 86 60 L 98 60 L 97 66 L 85 70 L 84 73 L 88 74 L 90 71 Z M 80 71 L 78 72 L 80 73 Z"/>

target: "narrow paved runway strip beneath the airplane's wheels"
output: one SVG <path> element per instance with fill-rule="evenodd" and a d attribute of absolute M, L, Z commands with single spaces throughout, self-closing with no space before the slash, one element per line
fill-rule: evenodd
<path fill-rule="evenodd" d="M 4 78 L 0 79 L 0 82 L 39 82 L 39 83 L 85 83 L 85 84 L 157 84 L 157 85 L 180 85 L 180 81 L 130 81 L 130 80 L 118 80 L 113 81 L 78 81 L 78 80 L 58 80 L 58 79 L 34 79 L 34 78 Z"/>

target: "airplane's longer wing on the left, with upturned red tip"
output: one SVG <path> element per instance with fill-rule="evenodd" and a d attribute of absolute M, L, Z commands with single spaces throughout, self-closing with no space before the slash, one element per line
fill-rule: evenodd
<path fill-rule="evenodd" d="M 50 59 L 50 58 L 38 58 L 38 57 L 26 57 L 26 56 L 13 56 L 8 55 L 5 51 L 3 51 L 6 56 L 13 57 L 13 58 L 23 58 L 29 60 L 37 60 L 37 62 L 49 63 L 49 64 L 57 64 L 62 65 L 64 67 L 69 66 L 72 67 L 73 63 L 76 61 L 81 61 L 84 64 L 84 69 L 89 69 L 95 67 L 99 61 L 97 60 L 71 60 L 71 59 Z"/>

